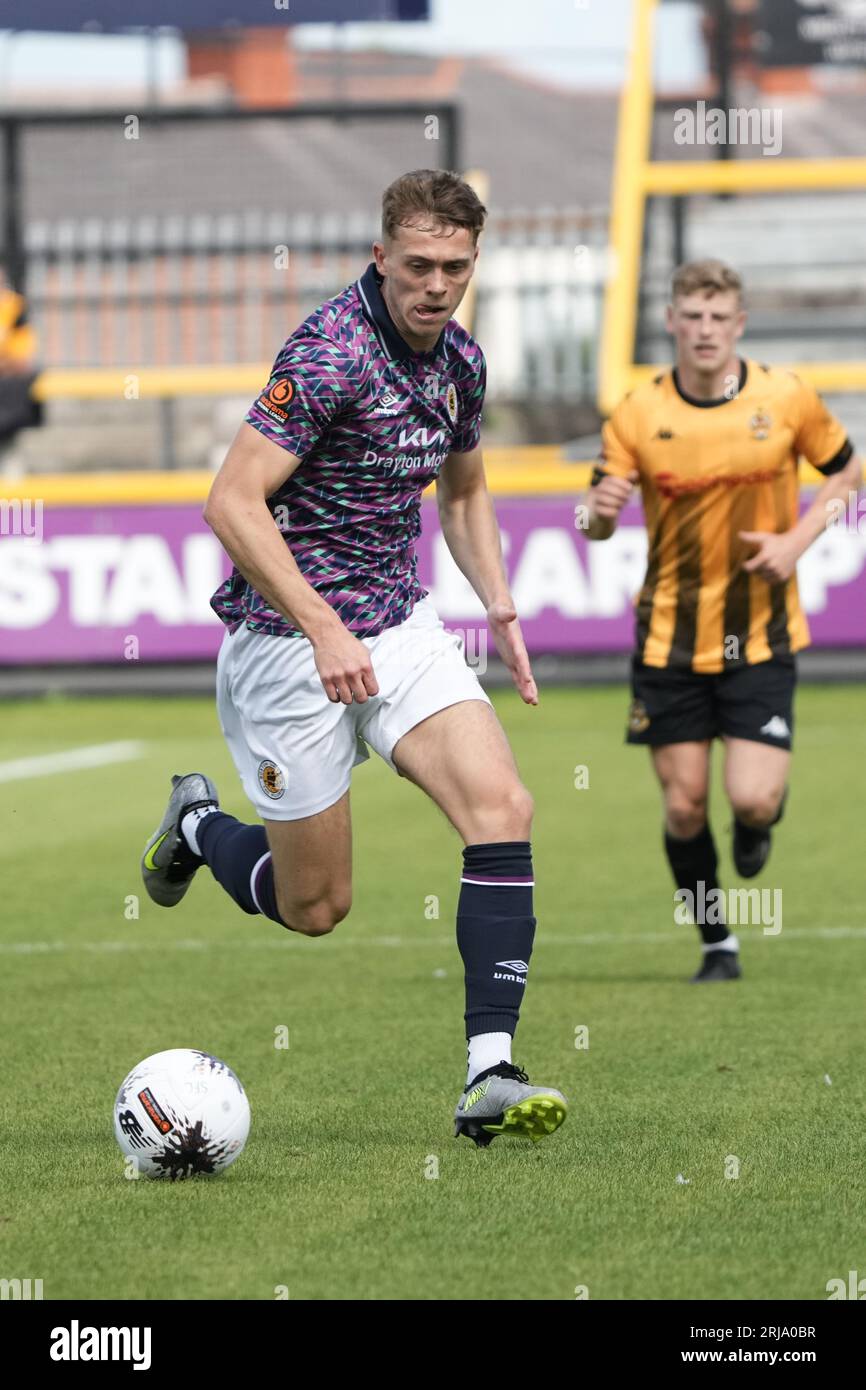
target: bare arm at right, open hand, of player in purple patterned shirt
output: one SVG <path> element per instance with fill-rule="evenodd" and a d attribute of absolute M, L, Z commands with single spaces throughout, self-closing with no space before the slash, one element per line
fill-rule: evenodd
<path fill-rule="evenodd" d="M 439 524 L 455 563 L 487 609 L 499 656 L 527 705 L 538 705 L 530 657 L 512 600 L 481 446 L 449 453 L 436 480 Z"/>

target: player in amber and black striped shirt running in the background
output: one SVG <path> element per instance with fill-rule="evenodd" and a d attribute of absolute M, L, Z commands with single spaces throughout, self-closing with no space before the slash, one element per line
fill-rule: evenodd
<path fill-rule="evenodd" d="M 703 960 L 694 981 L 741 973 L 737 937 L 713 892 L 712 739 L 724 741 L 734 863 L 751 878 L 781 819 L 794 653 L 809 642 L 796 562 L 862 474 L 812 386 L 737 354 L 745 317 L 735 271 L 716 260 L 680 267 L 667 309 L 676 367 L 616 407 L 588 495 L 588 535 L 603 541 L 634 484 L 641 488 L 649 549 L 627 738 L 649 745 L 667 858 L 677 888 L 692 895 L 678 901 L 696 905 Z M 799 455 L 826 480 L 803 516 Z"/>

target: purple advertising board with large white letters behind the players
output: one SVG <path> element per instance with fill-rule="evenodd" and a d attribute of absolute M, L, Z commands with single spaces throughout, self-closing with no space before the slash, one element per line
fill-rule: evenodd
<path fill-rule="evenodd" d="M 0 663 L 215 656 L 222 627 L 209 599 L 229 566 L 199 503 L 1 507 Z M 595 545 L 575 525 L 573 498 L 498 498 L 496 513 L 530 652 L 628 651 L 646 557 L 639 507 Z M 418 574 L 448 627 L 482 626 L 432 500 Z M 815 645 L 866 646 L 866 510 L 828 527 L 798 574 Z"/>

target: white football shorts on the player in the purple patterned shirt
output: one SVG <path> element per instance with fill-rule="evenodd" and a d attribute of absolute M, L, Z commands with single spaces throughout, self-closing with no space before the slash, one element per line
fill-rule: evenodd
<path fill-rule="evenodd" d="M 406 621 L 364 638 L 379 694 L 363 705 L 324 692 L 306 637 L 239 627 L 222 638 L 217 712 L 243 790 L 263 820 L 300 820 L 339 801 L 352 769 L 374 748 L 395 767 L 395 744 L 423 719 L 478 699 L 463 639 L 448 632 L 430 598 Z M 395 767 L 396 771 L 396 767 Z"/>

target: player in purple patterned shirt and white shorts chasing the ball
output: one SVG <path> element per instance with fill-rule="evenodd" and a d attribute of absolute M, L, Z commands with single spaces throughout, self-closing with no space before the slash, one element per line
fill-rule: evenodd
<path fill-rule="evenodd" d="M 449 550 L 537 705 L 478 443 L 484 354 L 452 318 L 484 218 L 455 174 L 398 178 L 374 261 L 277 356 L 204 509 L 235 566 L 211 600 L 225 624 L 220 721 L 264 826 L 227 816 L 210 778 L 188 773 L 142 862 L 163 906 L 207 865 L 245 912 L 322 935 L 352 901 L 353 766 L 370 746 L 416 783 L 466 847 L 468 1069 L 455 1123 L 478 1145 L 539 1140 L 566 1118 L 564 1097 L 512 1062 L 535 933 L 532 799 L 414 550 L 436 480 Z"/>

